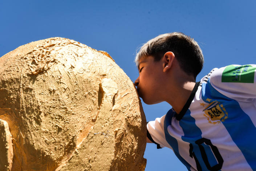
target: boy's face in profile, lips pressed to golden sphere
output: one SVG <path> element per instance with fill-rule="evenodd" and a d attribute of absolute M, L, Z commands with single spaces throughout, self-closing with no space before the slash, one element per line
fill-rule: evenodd
<path fill-rule="evenodd" d="M 148 105 L 163 101 L 160 95 L 164 91 L 161 89 L 162 74 L 161 60 L 154 61 L 152 56 L 148 56 L 139 61 L 139 77 L 134 84 L 137 86 L 139 97 Z"/>

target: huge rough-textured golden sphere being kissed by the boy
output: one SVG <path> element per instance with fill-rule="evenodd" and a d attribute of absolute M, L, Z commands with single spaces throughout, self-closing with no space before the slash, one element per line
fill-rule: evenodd
<path fill-rule="evenodd" d="M 133 82 L 109 54 L 74 40 L 31 42 L 0 58 L 0 119 L 13 143 L 0 158 L 7 170 L 145 170 Z"/>

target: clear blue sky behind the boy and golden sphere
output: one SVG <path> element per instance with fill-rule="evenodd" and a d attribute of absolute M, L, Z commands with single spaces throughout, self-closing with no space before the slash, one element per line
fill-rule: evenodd
<path fill-rule="evenodd" d="M 168 32 L 190 35 L 202 48 L 205 63 L 197 81 L 213 68 L 256 64 L 255 0 L 1 0 L 0 23 L 0 56 L 31 41 L 65 37 L 108 52 L 133 82 L 136 50 Z M 171 107 L 142 104 L 147 121 Z M 186 170 L 167 148 L 147 144 L 144 157 L 146 171 Z"/>

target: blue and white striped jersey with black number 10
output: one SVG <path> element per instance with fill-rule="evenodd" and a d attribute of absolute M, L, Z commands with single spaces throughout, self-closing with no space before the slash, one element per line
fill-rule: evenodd
<path fill-rule="evenodd" d="M 256 65 L 213 69 L 182 111 L 147 123 L 147 137 L 171 148 L 189 171 L 256 171 Z"/>

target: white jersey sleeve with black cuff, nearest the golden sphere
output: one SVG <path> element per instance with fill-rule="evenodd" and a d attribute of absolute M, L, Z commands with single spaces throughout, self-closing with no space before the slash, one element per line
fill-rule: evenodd
<path fill-rule="evenodd" d="M 157 148 L 165 147 L 165 135 L 164 135 L 164 118 L 166 115 L 161 118 L 156 118 L 155 121 L 150 121 L 147 123 L 147 137 L 153 143 L 157 144 Z"/>

